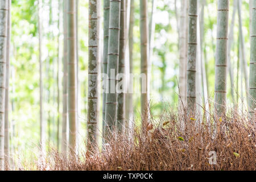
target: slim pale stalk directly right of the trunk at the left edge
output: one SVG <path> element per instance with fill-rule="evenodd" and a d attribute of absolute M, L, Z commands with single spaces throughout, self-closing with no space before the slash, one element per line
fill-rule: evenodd
<path fill-rule="evenodd" d="M 11 0 L 8 0 L 7 43 L 6 43 L 6 89 L 5 89 L 5 169 L 9 169 L 9 77 L 11 47 Z"/>

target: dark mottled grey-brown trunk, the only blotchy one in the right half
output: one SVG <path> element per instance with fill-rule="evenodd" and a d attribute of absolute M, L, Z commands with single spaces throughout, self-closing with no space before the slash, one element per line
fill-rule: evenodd
<path fill-rule="evenodd" d="M 188 22 L 187 105 L 191 117 L 196 108 L 197 0 L 189 0 Z"/>

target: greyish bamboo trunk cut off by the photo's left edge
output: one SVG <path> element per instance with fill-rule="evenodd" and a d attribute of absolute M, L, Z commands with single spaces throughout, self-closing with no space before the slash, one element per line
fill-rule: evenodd
<path fill-rule="evenodd" d="M 4 169 L 5 74 L 8 1 L 0 1 L 0 171 Z"/>

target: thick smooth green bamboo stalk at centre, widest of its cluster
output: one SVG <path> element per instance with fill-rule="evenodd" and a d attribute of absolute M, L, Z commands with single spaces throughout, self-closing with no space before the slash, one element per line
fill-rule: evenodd
<path fill-rule="evenodd" d="M 110 1 L 109 45 L 108 45 L 108 84 L 106 93 L 105 139 L 114 130 L 117 117 L 117 93 L 115 77 L 118 73 L 119 33 L 121 1 Z"/>

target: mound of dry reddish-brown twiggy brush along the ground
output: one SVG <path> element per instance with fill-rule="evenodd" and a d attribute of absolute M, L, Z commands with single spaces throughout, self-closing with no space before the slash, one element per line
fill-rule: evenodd
<path fill-rule="evenodd" d="M 256 170 L 255 118 L 236 109 L 222 117 L 203 113 L 189 118 L 185 112 L 168 111 L 160 118 L 152 119 L 158 124 L 147 124 L 144 132 L 135 126 L 128 134 L 113 133 L 104 151 L 85 152 L 79 159 L 52 152 L 36 169 Z"/>

